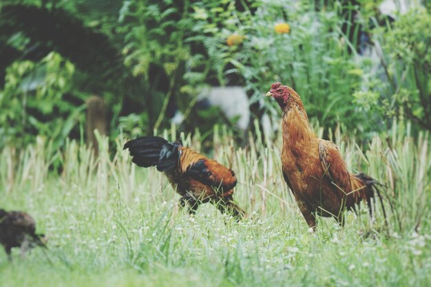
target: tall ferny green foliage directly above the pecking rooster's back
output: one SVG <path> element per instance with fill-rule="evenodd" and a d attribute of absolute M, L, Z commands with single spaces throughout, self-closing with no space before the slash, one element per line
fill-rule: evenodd
<path fill-rule="evenodd" d="M 156 129 L 167 123 L 171 99 L 185 97 L 182 75 L 190 57 L 185 33 L 193 25 L 187 3 L 124 1 L 118 17 L 125 41 L 124 64 L 133 76 L 143 79 L 142 100 L 147 103 L 150 127 Z M 160 112 L 156 114 L 154 109 Z"/>

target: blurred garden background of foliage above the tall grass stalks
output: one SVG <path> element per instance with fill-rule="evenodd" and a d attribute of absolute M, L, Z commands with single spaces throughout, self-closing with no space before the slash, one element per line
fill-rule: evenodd
<path fill-rule="evenodd" d="M 314 125 L 431 130 L 430 1 L 6 0 L 0 149 L 153 134 L 275 136 L 281 81 Z M 318 124 L 317 124 L 318 123 Z"/>

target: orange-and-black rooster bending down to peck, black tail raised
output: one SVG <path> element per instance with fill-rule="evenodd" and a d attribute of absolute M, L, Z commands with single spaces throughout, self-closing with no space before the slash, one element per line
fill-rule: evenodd
<path fill-rule="evenodd" d="M 200 203 L 215 203 L 223 213 L 237 219 L 244 211 L 233 203 L 235 173 L 215 160 L 209 160 L 179 142 L 168 142 L 158 136 L 143 136 L 124 146 L 139 167 L 156 166 L 182 196 L 180 206 L 189 206 L 195 213 Z"/>

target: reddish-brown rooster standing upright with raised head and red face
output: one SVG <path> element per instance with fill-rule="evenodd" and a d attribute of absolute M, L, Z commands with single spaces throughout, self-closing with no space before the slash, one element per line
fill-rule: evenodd
<path fill-rule="evenodd" d="M 308 125 L 299 95 L 281 83 L 273 83 L 266 94 L 283 110 L 282 169 L 302 215 L 315 229 L 315 215 L 334 217 L 344 223 L 344 209 L 355 210 L 365 200 L 371 209 L 377 181 L 364 173 L 349 173 L 337 146 L 317 138 Z"/>

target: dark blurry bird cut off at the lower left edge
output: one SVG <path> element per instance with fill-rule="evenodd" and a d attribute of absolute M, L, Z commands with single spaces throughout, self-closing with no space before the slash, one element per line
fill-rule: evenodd
<path fill-rule="evenodd" d="M 36 224 L 27 213 L 0 209 L 0 243 L 9 260 L 12 260 L 10 252 L 13 247 L 21 247 L 21 256 L 36 245 L 46 248 L 45 235 L 36 234 L 35 231 Z"/>

